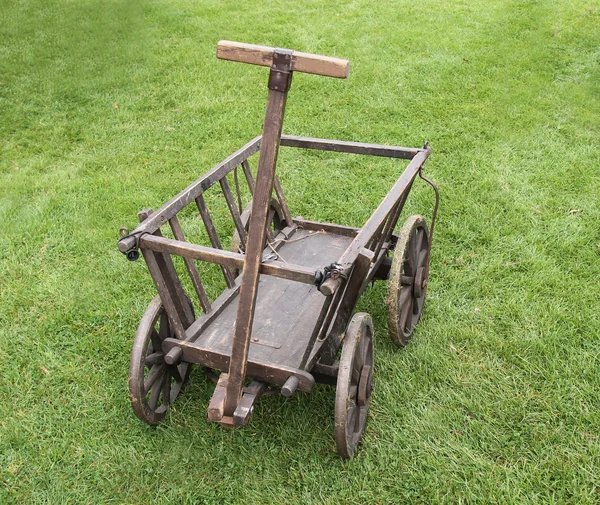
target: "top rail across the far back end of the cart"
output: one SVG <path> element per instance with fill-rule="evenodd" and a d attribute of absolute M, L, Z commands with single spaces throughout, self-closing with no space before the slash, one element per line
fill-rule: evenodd
<path fill-rule="evenodd" d="M 369 156 L 384 156 L 386 158 L 413 159 L 425 149 L 400 146 L 384 146 L 379 144 L 365 144 L 363 142 L 346 142 L 343 140 L 317 139 L 310 137 L 297 137 L 295 135 L 282 135 L 281 145 L 286 147 L 299 147 L 303 149 L 317 149 L 319 151 L 334 151 L 337 153 L 366 154 Z"/>

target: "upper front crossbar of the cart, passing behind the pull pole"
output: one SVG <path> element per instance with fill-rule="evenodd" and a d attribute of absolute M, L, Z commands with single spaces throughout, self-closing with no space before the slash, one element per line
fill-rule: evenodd
<path fill-rule="evenodd" d="M 181 242 L 179 240 L 173 240 L 165 237 L 155 237 L 154 235 L 144 235 L 140 239 L 140 246 L 155 252 L 176 254 L 177 256 L 207 261 L 209 263 L 216 263 L 218 265 L 224 265 L 230 268 L 245 268 L 244 265 L 247 265 L 248 261 L 248 254 L 244 255 L 231 251 L 225 251 L 223 249 L 213 249 L 211 247 L 190 244 L 188 242 Z M 293 263 L 261 264 L 260 259 L 262 258 L 262 251 L 263 250 L 261 249 L 258 263 L 258 269 L 260 270 L 260 273 L 272 275 L 273 277 L 280 277 L 282 279 L 302 282 L 304 284 L 314 283 L 316 272 L 313 268 L 295 265 Z"/>

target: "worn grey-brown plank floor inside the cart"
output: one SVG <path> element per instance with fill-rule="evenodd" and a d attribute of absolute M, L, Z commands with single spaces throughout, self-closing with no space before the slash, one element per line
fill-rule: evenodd
<path fill-rule="evenodd" d="M 322 270 L 337 261 L 352 238 L 298 230 L 278 250 L 283 260 Z M 266 249 L 263 258 L 274 256 Z M 298 368 L 304 356 L 325 297 L 316 286 L 262 275 L 249 358 L 263 363 Z M 231 354 L 238 299 L 208 326 L 196 342 L 211 350 Z"/>

